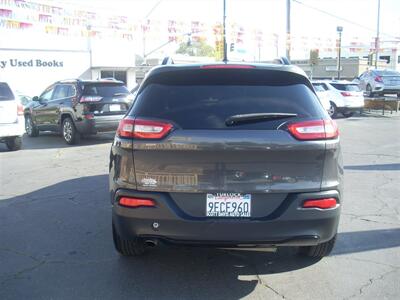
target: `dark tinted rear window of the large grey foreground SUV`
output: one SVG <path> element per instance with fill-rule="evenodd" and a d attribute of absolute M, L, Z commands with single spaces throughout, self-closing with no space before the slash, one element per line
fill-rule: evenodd
<path fill-rule="evenodd" d="M 189 82 L 186 82 L 189 83 Z M 148 84 L 131 115 L 174 122 L 183 129 L 269 129 L 286 120 L 226 126 L 227 118 L 251 113 L 295 113 L 321 117 L 315 94 L 304 84 Z M 201 82 L 200 82 L 201 83 Z"/>

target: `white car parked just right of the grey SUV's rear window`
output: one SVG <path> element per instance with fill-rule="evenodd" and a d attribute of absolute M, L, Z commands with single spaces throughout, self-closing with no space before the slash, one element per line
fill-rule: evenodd
<path fill-rule="evenodd" d="M 356 83 L 347 80 L 321 81 L 329 91 L 331 108 L 329 114 L 332 117 L 341 113 L 345 117 L 351 117 L 354 112 L 364 108 L 364 95 Z"/>

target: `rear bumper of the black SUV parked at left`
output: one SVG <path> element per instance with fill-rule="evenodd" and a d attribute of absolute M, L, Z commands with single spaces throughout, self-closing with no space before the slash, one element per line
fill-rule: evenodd
<path fill-rule="evenodd" d="M 82 121 L 75 122 L 76 129 L 80 133 L 94 134 L 97 132 L 108 132 L 116 131 L 118 128 L 119 121 L 124 115 L 112 115 L 112 116 L 95 116 L 93 119 L 84 119 Z"/>

